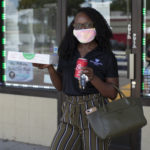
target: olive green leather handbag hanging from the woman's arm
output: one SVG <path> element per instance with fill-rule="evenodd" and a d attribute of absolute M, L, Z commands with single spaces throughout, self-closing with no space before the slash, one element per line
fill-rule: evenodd
<path fill-rule="evenodd" d="M 147 124 L 139 98 L 127 98 L 119 88 L 120 99 L 104 104 L 87 115 L 87 119 L 101 139 L 112 138 L 137 130 Z"/>

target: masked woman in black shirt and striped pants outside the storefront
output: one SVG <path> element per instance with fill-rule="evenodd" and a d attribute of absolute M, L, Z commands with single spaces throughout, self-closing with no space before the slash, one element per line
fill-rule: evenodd
<path fill-rule="evenodd" d="M 112 32 L 99 12 L 81 8 L 60 44 L 57 70 L 52 65 L 35 64 L 41 69 L 48 68 L 53 85 L 66 95 L 51 150 L 108 150 L 108 140 L 96 136 L 85 110 L 101 107 L 104 97 L 114 99 L 117 95 L 112 86 L 118 86 L 118 69 L 111 52 L 111 37 Z M 88 60 L 88 66 L 82 71 L 89 79 L 84 90 L 74 78 L 76 61 L 80 57 Z"/>

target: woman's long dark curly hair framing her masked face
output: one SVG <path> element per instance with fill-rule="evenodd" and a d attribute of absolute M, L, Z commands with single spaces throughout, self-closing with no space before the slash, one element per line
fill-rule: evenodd
<path fill-rule="evenodd" d="M 107 24 L 104 17 L 95 9 L 90 7 L 83 7 L 80 8 L 77 12 L 85 13 L 94 23 L 94 27 L 96 28 L 96 37 L 95 41 L 97 42 L 99 46 L 99 50 L 101 51 L 110 51 L 111 50 L 111 43 L 110 39 L 112 38 L 112 31 Z M 77 50 L 78 41 L 73 35 L 73 24 L 74 20 L 71 22 L 70 26 L 67 29 L 67 32 L 60 43 L 58 52 L 59 56 L 62 59 L 69 60 L 71 59 L 75 51 Z"/>

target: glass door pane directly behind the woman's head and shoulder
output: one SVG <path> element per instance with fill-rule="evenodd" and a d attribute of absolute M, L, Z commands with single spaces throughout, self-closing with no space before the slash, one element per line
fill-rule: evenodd
<path fill-rule="evenodd" d="M 112 50 L 117 58 L 120 85 L 130 96 L 130 84 L 127 79 L 127 54 L 131 51 L 131 0 L 68 0 L 68 25 L 80 7 L 92 7 L 107 20 L 113 31 Z"/>

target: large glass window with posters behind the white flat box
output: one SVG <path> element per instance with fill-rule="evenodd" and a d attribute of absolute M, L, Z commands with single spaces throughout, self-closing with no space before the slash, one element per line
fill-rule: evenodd
<path fill-rule="evenodd" d="M 57 0 L 6 0 L 5 51 L 50 54 L 57 52 Z M 54 88 L 47 69 L 5 57 L 5 85 Z"/>

